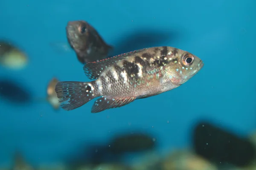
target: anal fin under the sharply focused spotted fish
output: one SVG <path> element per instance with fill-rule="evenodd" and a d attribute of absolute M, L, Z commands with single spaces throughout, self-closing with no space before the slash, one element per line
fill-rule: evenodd
<path fill-rule="evenodd" d="M 110 108 L 119 108 L 133 102 L 135 99 L 136 97 L 111 98 L 102 96 L 94 102 L 91 113 L 98 113 Z"/>

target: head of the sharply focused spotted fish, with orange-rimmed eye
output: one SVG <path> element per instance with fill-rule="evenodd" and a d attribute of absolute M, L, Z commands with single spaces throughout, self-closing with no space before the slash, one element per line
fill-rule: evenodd
<path fill-rule="evenodd" d="M 200 58 L 177 48 L 169 47 L 166 59 L 169 60 L 165 67 L 166 74 L 175 85 L 187 82 L 204 66 Z"/>

